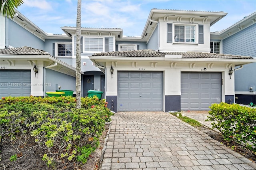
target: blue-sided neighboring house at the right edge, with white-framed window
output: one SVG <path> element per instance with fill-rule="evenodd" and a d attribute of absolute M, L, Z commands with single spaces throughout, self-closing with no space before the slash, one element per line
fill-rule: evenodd
<path fill-rule="evenodd" d="M 210 36 L 211 45 L 214 45 L 212 51 L 256 59 L 256 12 Z M 235 69 L 235 102 L 256 103 L 256 63 L 240 65 Z"/>

